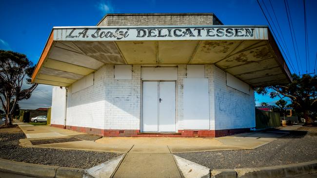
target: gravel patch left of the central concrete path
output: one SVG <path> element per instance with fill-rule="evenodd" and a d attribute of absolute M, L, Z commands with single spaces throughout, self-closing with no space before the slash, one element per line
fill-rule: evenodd
<path fill-rule="evenodd" d="M 0 158 L 86 169 L 119 156 L 115 153 L 21 147 L 19 139 L 24 138 L 25 135 L 19 127 L 0 128 Z"/>

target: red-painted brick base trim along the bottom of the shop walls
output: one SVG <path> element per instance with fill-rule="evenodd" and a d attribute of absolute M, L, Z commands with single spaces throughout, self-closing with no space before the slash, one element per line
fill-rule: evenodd
<path fill-rule="evenodd" d="M 51 126 L 64 128 L 63 125 L 51 124 Z M 225 130 L 178 130 L 178 133 L 181 134 L 138 134 L 140 130 L 99 129 L 70 125 L 66 125 L 66 129 L 105 137 L 222 137 L 226 135 L 248 132 L 250 130 L 249 128 Z"/>

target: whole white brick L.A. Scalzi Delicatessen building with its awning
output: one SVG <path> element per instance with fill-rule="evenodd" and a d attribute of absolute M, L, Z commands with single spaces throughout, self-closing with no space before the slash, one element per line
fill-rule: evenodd
<path fill-rule="evenodd" d="M 55 27 L 32 81 L 51 126 L 102 136 L 218 137 L 255 127 L 254 87 L 288 83 L 266 26 L 213 14 L 109 14 Z"/>

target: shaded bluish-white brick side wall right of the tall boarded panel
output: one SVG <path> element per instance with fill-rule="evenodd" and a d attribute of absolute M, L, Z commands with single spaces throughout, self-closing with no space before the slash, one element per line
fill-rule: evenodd
<path fill-rule="evenodd" d="M 254 90 L 250 95 L 226 86 L 226 74 L 215 65 L 215 129 L 255 127 Z"/>

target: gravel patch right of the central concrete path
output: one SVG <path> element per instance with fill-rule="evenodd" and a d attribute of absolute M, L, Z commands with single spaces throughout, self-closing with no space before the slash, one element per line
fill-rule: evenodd
<path fill-rule="evenodd" d="M 303 129 L 292 131 L 254 150 L 209 151 L 176 155 L 210 169 L 266 167 L 307 162 L 317 160 L 317 134 L 316 132 L 307 133 Z"/>

